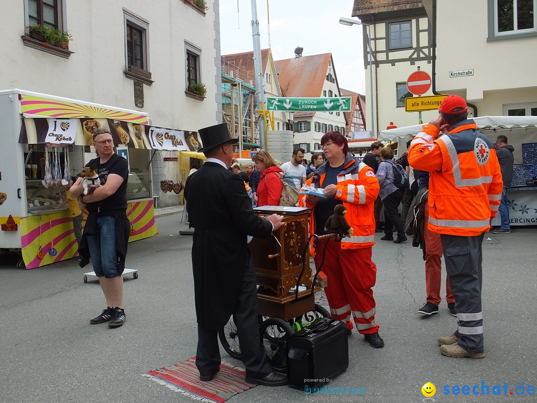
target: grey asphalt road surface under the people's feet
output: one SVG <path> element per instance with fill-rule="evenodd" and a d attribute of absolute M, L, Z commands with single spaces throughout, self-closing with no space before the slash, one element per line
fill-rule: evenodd
<path fill-rule="evenodd" d="M 185 226 L 178 214 L 159 218 L 157 226 L 159 235 L 130 244 L 127 266 L 140 276 L 126 276 L 127 322 L 116 329 L 88 322 L 105 306 L 98 284 L 83 283 L 88 267 L 70 260 L 16 269 L 15 256 L 0 254 L 1 402 L 192 401 L 141 376 L 195 354 L 192 239 L 179 235 Z M 381 241 L 381 235 L 373 250 L 378 267 L 374 293 L 386 347 L 373 349 L 352 334 L 349 368 L 330 384 L 365 388 L 365 393 L 305 394 L 286 386 L 258 386 L 230 401 L 418 402 L 426 382 L 436 386 L 437 402 L 537 401 L 527 394 L 529 385 L 537 388 L 537 229 L 485 236 L 484 359 L 440 354 L 436 338 L 453 332 L 455 318 L 445 301 L 437 315 L 417 314 L 425 303 L 421 250 Z M 240 363 L 223 349 L 222 357 Z M 481 392 L 482 382 L 490 395 L 473 395 L 471 389 L 469 395 L 451 393 L 454 385 L 478 385 Z M 517 395 L 521 388 L 516 386 L 523 383 L 524 394 Z M 501 386 L 502 395 L 492 395 L 494 385 Z"/>

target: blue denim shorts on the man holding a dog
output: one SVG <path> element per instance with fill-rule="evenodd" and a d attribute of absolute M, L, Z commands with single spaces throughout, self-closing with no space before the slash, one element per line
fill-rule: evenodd
<path fill-rule="evenodd" d="M 97 277 L 113 278 L 120 276 L 119 257 L 116 249 L 115 218 L 98 217 L 97 235 L 88 236 L 91 264 Z"/>

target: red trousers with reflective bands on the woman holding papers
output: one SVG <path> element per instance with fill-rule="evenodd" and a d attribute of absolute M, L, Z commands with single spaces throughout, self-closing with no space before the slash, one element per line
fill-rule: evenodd
<path fill-rule="evenodd" d="M 349 322 L 352 315 L 358 332 L 376 333 L 379 325 L 375 323 L 372 290 L 376 283 L 376 265 L 371 261 L 373 248 L 341 249 L 340 245 L 332 239 L 322 240 L 315 249 L 315 267 L 324 272 L 328 281 L 324 292 L 330 314 L 344 322 Z"/>

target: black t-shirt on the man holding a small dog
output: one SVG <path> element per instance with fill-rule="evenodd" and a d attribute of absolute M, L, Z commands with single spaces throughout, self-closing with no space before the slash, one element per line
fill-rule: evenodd
<path fill-rule="evenodd" d="M 97 213 L 99 217 L 114 215 L 127 210 L 127 181 L 129 175 L 129 165 L 127 160 L 118 154 L 113 154 L 104 164 L 100 163 L 100 158 L 91 160 L 86 167 L 93 166 L 101 182 L 101 186 L 106 183 L 108 175 L 115 174 L 121 176 L 124 181 L 119 185 L 118 190 L 112 196 L 100 200 L 100 202 L 88 203 L 86 208 L 89 212 Z"/>

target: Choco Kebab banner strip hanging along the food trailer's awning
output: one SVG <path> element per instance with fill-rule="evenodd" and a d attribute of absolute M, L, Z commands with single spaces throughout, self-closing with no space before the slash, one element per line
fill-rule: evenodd
<path fill-rule="evenodd" d="M 20 128 L 19 143 L 92 146 L 92 134 L 98 128 L 110 131 L 116 147 L 188 152 L 197 152 L 202 147 L 198 132 L 101 118 L 25 117 Z"/>

